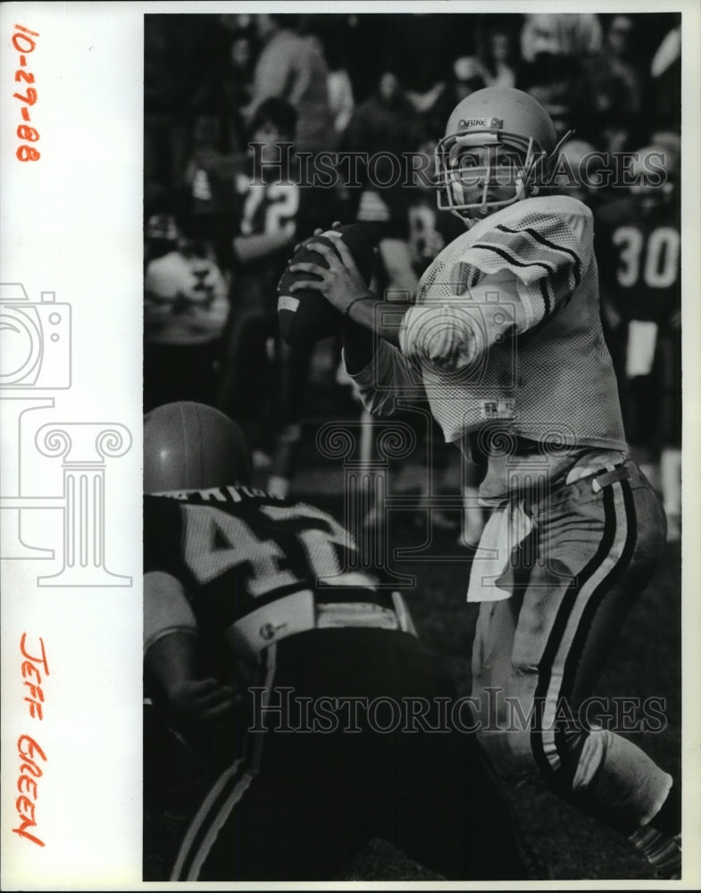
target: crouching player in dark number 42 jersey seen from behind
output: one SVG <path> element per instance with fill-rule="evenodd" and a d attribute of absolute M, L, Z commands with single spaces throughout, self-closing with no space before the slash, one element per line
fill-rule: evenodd
<path fill-rule="evenodd" d="M 185 734 L 253 698 L 171 880 L 329 880 L 374 838 L 446 878 L 526 877 L 469 710 L 440 721 L 452 682 L 350 534 L 251 488 L 240 430 L 211 407 L 148 413 L 144 453 L 148 690 Z"/>

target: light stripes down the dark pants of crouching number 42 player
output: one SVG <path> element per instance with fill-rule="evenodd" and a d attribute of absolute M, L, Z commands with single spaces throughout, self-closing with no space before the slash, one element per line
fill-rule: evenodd
<path fill-rule="evenodd" d="M 267 648 L 261 655 L 258 675 L 264 676 L 263 704 L 267 704 L 276 669 L 277 646 Z M 244 746 L 246 757 L 237 760 L 229 769 L 222 772 L 212 789 L 204 798 L 203 804 L 188 828 L 188 833 L 180 846 L 171 880 L 197 880 L 204 860 L 209 855 L 221 827 L 229 818 L 232 809 L 246 793 L 246 790 L 260 769 L 263 755 L 263 734 L 259 733 L 253 746 L 246 736 Z"/>

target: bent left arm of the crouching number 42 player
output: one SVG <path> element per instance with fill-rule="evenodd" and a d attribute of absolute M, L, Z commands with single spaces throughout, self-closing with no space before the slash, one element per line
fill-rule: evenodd
<path fill-rule="evenodd" d="M 156 697 L 180 721 L 208 722 L 228 714 L 233 690 L 198 670 L 199 637 L 185 588 L 169 573 L 144 575 L 144 669 Z"/>

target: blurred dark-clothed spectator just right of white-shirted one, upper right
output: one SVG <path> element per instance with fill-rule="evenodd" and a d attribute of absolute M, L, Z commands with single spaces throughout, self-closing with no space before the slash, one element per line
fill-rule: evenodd
<path fill-rule="evenodd" d="M 638 136 L 642 110 L 642 76 L 633 62 L 633 20 L 614 15 L 607 21 L 605 43 L 600 54 L 588 63 L 594 89 L 597 127 L 602 146 L 622 152 Z"/>

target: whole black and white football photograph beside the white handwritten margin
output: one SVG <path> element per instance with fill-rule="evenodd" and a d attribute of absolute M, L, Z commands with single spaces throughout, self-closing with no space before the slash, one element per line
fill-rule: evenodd
<path fill-rule="evenodd" d="M 680 879 L 681 14 L 395 8 L 146 15 L 144 879 Z"/>

